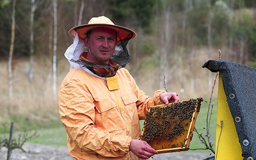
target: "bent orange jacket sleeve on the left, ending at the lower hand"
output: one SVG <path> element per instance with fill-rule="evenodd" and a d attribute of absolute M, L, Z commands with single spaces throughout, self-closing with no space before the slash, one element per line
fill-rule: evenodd
<path fill-rule="evenodd" d="M 60 118 L 69 138 L 86 152 L 106 157 L 127 154 L 131 136 L 118 136 L 97 129 L 92 95 L 74 81 L 61 86 L 58 93 Z"/>

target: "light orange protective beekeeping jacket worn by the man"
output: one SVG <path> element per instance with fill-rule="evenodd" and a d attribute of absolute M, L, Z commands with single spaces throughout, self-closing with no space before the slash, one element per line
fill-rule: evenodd
<path fill-rule="evenodd" d="M 74 159 L 138 159 L 129 145 L 140 139 L 139 120 L 145 119 L 148 106 L 161 104 L 164 91 L 148 97 L 125 68 L 116 77 L 120 88 L 109 91 L 106 80 L 73 68 L 61 83 L 60 118 Z"/>

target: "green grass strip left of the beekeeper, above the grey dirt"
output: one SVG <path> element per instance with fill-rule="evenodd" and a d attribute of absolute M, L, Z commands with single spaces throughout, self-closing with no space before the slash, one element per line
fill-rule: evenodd
<path fill-rule="evenodd" d="M 67 145 L 67 136 L 58 114 L 42 114 L 40 117 L 28 118 L 24 115 L 15 115 L 0 124 L 0 138 L 9 137 L 10 125 L 13 122 L 13 139 L 17 139 L 20 134 L 31 135 L 36 132 L 36 136 L 28 142 L 40 143 L 44 145 Z"/>

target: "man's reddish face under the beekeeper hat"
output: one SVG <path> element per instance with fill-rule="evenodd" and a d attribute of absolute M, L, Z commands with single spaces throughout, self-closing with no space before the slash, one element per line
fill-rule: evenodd
<path fill-rule="evenodd" d="M 90 50 L 87 59 L 96 63 L 108 63 L 115 52 L 116 32 L 110 28 L 95 28 L 90 38 L 84 40 Z"/>

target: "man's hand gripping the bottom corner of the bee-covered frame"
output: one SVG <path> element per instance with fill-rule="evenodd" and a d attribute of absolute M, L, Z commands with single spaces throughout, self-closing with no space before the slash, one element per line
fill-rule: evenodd
<path fill-rule="evenodd" d="M 130 145 L 130 150 L 137 157 L 141 159 L 148 159 L 151 156 L 157 154 L 156 150 L 152 148 L 146 141 L 132 140 Z"/>

